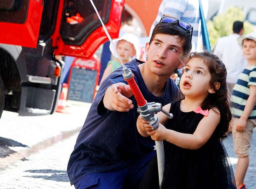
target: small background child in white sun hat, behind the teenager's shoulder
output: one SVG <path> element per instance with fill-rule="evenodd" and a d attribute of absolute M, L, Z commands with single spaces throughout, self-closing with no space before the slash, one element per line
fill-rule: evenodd
<path fill-rule="evenodd" d="M 114 48 L 116 48 L 116 50 L 124 64 L 131 61 L 132 59 L 136 58 L 136 55 L 138 54 L 140 41 L 139 41 L 138 37 L 132 33 L 126 33 L 118 39 L 113 39 L 113 43 L 114 43 L 114 45 L 112 45 L 112 43 L 110 43 L 109 48 L 110 48 L 112 55 L 114 55 L 117 59 L 114 61 L 108 62 L 108 65 L 102 75 L 100 85 L 101 85 L 102 81 L 106 77 L 108 77 L 108 75 L 110 75 L 110 73 L 112 73 L 118 67 L 122 66 Z"/>

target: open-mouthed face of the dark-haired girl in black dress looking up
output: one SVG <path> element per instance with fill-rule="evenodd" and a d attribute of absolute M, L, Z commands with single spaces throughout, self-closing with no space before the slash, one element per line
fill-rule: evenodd
<path fill-rule="evenodd" d="M 203 59 L 191 58 L 184 67 L 180 90 L 187 98 L 205 99 L 209 93 L 215 93 L 210 87 L 210 80 L 210 71 Z"/>

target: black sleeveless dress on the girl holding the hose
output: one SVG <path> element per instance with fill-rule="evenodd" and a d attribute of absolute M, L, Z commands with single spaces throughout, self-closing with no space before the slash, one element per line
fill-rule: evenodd
<path fill-rule="evenodd" d="M 182 112 L 180 100 L 171 105 L 173 118 L 166 128 L 193 134 L 204 115 Z M 207 125 L 206 125 L 207 126 Z M 226 150 L 214 133 L 198 150 L 180 148 L 164 141 L 165 169 L 161 189 L 236 189 Z M 150 162 L 141 189 L 159 189 L 156 156 Z"/>

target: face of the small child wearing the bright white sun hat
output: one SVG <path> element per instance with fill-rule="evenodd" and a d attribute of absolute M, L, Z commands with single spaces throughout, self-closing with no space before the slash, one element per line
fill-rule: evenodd
<path fill-rule="evenodd" d="M 117 52 L 122 59 L 123 63 L 130 61 L 131 57 L 136 55 L 136 50 L 132 43 L 121 40 L 117 44 Z"/>

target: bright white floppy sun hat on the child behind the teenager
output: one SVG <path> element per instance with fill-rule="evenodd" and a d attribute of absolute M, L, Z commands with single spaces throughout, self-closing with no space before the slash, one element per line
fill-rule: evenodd
<path fill-rule="evenodd" d="M 110 45 L 109 45 L 109 49 L 110 49 L 112 55 L 114 55 L 115 57 L 118 58 L 118 55 L 116 54 L 115 49 L 117 49 L 117 44 L 120 40 L 126 40 L 126 41 L 132 43 L 132 45 L 134 46 L 134 48 L 136 50 L 136 54 L 135 54 L 135 56 L 132 56 L 131 58 L 132 59 L 136 58 L 136 56 L 139 53 L 140 40 L 136 35 L 134 35 L 132 33 L 126 33 L 126 34 L 122 35 L 120 38 L 112 40 L 114 43 L 114 46 L 112 45 L 112 43 L 110 43 Z"/>

